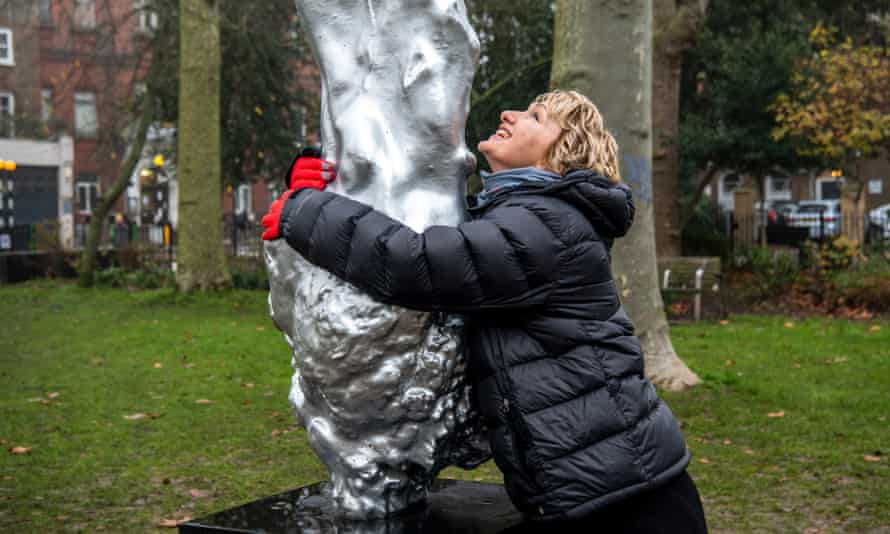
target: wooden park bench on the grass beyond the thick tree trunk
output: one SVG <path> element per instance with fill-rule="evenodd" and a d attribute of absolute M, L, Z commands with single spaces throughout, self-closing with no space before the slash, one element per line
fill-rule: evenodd
<path fill-rule="evenodd" d="M 726 314 L 720 282 L 722 281 L 721 261 L 719 257 L 666 257 L 658 258 L 658 272 L 661 274 L 662 295 L 692 295 L 692 315 L 696 321 L 701 320 L 702 296 L 705 294 L 717 297 L 720 315 Z"/>

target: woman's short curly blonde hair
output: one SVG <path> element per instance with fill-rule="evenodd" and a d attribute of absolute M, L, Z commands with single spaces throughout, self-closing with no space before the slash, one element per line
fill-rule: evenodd
<path fill-rule="evenodd" d="M 535 98 L 547 107 L 547 116 L 562 133 L 547 153 L 551 170 L 565 174 L 589 169 L 613 183 L 621 181 L 618 143 L 603 126 L 603 116 L 586 96 L 577 91 L 551 91 Z"/>

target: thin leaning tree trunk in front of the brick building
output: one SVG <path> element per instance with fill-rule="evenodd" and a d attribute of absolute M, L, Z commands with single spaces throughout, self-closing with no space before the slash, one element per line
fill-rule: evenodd
<path fill-rule="evenodd" d="M 127 159 L 118 171 L 117 180 L 111 185 L 111 189 L 102 195 L 102 200 L 93 212 L 90 219 L 90 226 L 87 230 L 87 242 L 80 255 L 80 265 L 78 266 L 78 283 L 83 287 L 93 285 L 93 275 L 96 271 L 96 255 L 99 251 L 99 244 L 102 242 L 102 233 L 105 231 L 105 219 L 114 206 L 121 193 L 127 189 L 130 183 L 130 177 L 139 158 L 142 156 L 142 149 L 145 146 L 145 137 L 148 134 L 148 127 L 152 121 L 151 101 L 148 95 L 142 98 L 142 113 L 139 124 L 136 127 L 136 134 L 133 137 Z"/>

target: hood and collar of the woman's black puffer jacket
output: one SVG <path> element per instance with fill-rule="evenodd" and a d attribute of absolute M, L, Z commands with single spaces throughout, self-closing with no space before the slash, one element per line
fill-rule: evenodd
<path fill-rule="evenodd" d="M 470 212 L 480 213 L 509 195 L 530 193 L 554 196 L 568 202 L 581 211 L 605 239 L 621 237 L 633 225 L 635 208 L 630 187 L 613 184 L 605 177 L 588 170 L 569 171 L 556 183 L 529 183 L 503 191 L 496 194 L 485 206 L 476 206 L 475 199 L 468 198 L 469 209 Z"/>

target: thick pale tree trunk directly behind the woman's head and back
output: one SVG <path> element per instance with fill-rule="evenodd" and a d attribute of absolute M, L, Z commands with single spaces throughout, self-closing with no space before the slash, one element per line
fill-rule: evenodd
<path fill-rule="evenodd" d="M 634 320 L 653 383 L 682 390 L 699 378 L 671 344 L 655 264 L 652 212 L 652 2 L 558 0 L 552 85 L 576 89 L 600 107 L 635 190 L 636 222 L 616 242 L 613 272 Z"/>

